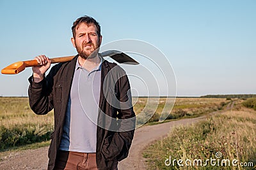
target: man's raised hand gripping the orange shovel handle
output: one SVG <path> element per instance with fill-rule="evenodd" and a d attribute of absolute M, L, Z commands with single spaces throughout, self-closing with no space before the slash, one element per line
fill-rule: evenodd
<path fill-rule="evenodd" d="M 51 60 L 48 57 L 46 57 L 45 55 L 38 55 L 37 57 L 35 57 L 35 60 L 37 60 L 38 64 L 40 64 L 40 66 L 32 67 L 33 80 L 36 83 L 38 83 L 44 79 L 45 72 L 51 66 Z"/>

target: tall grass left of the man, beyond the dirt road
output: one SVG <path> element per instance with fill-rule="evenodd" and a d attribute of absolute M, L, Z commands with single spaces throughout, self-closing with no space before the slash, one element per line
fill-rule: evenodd
<path fill-rule="evenodd" d="M 27 97 L 1 97 L 0 110 L 1 151 L 50 139 L 53 114 L 35 115 Z"/>

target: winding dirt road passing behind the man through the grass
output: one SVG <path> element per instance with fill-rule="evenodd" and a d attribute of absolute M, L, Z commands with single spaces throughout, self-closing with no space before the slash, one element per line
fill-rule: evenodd
<path fill-rule="evenodd" d="M 228 105 L 228 109 L 232 108 L 232 106 L 234 106 L 234 102 Z M 164 124 L 147 125 L 136 129 L 129 156 L 118 164 L 118 169 L 146 169 L 145 159 L 143 159 L 141 153 L 144 148 L 150 145 L 150 143 L 164 138 L 173 127 L 193 124 L 204 118 L 186 118 Z M 48 147 L 43 147 L 5 155 L 1 157 L 0 169 L 47 169 L 47 150 Z"/>

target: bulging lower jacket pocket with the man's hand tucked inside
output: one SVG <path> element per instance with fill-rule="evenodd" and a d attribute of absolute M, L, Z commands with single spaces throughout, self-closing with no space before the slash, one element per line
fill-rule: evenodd
<path fill-rule="evenodd" d="M 113 136 L 104 139 L 101 152 L 106 160 L 115 160 L 122 153 L 123 147 L 123 139 L 115 133 Z"/>

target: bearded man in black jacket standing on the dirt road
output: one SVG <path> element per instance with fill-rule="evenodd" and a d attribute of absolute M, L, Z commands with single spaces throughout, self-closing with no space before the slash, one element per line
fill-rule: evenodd
<path fill-rule="evenodd" d="M 117 169 L 128 155 L 135 114 L 125 71 L 102 59 L 100 25 L 92 17 L 72 26 L 78 55 L 56 64 L 35 57 L 40 66 L 29 78 L 29 104 L 38 115 L 54 109 L 48 169 Z"/>

